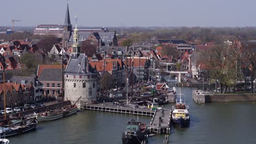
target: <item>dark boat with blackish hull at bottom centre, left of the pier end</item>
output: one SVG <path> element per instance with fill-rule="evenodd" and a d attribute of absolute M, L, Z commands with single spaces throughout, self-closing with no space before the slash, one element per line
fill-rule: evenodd
<path fill-rule="evenodd" d="M 146 123 L 137 122 L 131 119 L 127 122 L 126 130 L 122 135 L 123 144 L 141 144 L 147 142 L 147 126 Z"/>

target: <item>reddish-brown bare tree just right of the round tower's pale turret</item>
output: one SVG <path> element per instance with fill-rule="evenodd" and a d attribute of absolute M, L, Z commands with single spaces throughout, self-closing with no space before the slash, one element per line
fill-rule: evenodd
<path fill-rule="evenodd" d="M 86 53 L 87 56 L 92 57 L 97 50 L 97 41 L 95 40 L 85 40 L 82 42 L 82 53 Z"/>

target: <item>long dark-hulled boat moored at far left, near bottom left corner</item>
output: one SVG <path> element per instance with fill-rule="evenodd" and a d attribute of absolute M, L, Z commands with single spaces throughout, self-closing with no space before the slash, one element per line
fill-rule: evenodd
<path fill-rule="evenodd" d="M 14 136 L 26 133 L 28 131 L 32 131 L 37 127 L 36 119 L 28 119 L 24 121 L 24 123 L 19 123 L 16 125 L 5 125 L 4 127 L 0 127 L 0 136 Z"/>

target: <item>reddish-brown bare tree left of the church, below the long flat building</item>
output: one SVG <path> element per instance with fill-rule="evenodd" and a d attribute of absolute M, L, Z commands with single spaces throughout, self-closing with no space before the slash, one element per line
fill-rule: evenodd
<path fill-rule="evenodd" d="M 59 40 L 55 35 L 46 35 L 37 43 L 37 47 L 43 50 L 44 53 L 48 53 L 53 45 L 57 43 L 59 43 Z"/>

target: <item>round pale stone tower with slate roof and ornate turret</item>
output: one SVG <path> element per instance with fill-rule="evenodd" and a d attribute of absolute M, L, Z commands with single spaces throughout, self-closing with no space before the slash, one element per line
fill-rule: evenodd
<path fill-rule="evenodd" d="M 88 57 L 81 52 L 77 26 L 74 29 L 72 55 L 65 70 L 65 100 L 72 104 L 85 104 L 96 100 L 97 94 L 97 73 L 89 65 Z"/>

